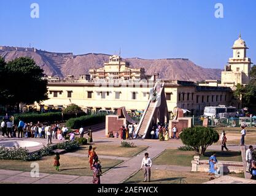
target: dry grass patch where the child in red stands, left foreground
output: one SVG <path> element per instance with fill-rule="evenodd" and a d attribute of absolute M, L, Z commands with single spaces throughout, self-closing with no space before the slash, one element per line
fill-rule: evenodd
<path fill-rule="evenodd" d="M 88 164 L 88 158 L 86 157 L 74 157 L 74 156 L 60 156 L 60 171 L 56 171 L 53 167 L 54 156 L 42 157 L 37 160 L 39 164 L 40 172 L 61 174 L 61 175 L 77 175 L 77 176 L 91 176 L 92 171 Z M 101 159 L 101 166 L 103 172 L 106 172 L 110 168 L 118 165 L 122 160 Z M 32 162 L 21 160 L 0 160 L 0 168 L 6 170 L 18 170 L 18 171 L 31 171 Z"/>

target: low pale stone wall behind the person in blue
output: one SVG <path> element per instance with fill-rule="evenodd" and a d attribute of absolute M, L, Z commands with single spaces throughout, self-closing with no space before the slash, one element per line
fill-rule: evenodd
<path fill-rule="evenodd" d="M 209 160 L 200 160 L 200 156 L 194 156 L 194 160 L 191 163 L 192 171 L 209 172 Z M 242 162 L 219 161 L 218 169 L 223 173 L 242 173 L 244 172 L 244 165 Z"/>

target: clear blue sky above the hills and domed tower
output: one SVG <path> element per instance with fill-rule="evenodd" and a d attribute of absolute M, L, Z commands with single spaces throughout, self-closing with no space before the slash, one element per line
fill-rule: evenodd
<path fill-rule="evenodd" d="M 39 18 L 30 5 L 39 4 Z M 222 3 L 224 18 L 215 18 Z M 256 62 L 255 0 L 1 0 L 0 45 L 124 58 L 189 58 L 221 68 L 239 32 Z"/>

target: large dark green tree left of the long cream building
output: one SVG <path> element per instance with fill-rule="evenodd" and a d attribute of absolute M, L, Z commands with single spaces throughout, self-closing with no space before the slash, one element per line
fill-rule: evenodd
<path fill-rule="evenodd" d="M 47 80 L 43 80 L 44 70 L 31 58 L 21 57 L 7 62 L 5 66 L 7 104 L 33 104 L 47 100 Z"/>

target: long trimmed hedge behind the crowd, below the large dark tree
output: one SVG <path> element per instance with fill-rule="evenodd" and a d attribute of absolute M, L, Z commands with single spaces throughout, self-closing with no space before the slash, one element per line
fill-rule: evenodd
<path fill-rule="evenodd" d="M 77 114 L 78 117 L 86 115 L 86 113 L 79 113 Z M 42 114 L 37 114 L 37 113 L 31 113 L 31 114 L 23 114 L 23 115 L 15 115 L 14 116 L 14 124 L 18 124 L 18 119 L 21 119 L 22 121 L 26 123 L 37 123 L 42 122 L 42 123 L 55 123 L 55 122 L 61 122 L 62 120 L 68 120 L 70 118 L 76 118 L 76 115 L 74 114 L 63 114 L 61 112 L 51 112 L 51 113 L 42 113 Z"/>

